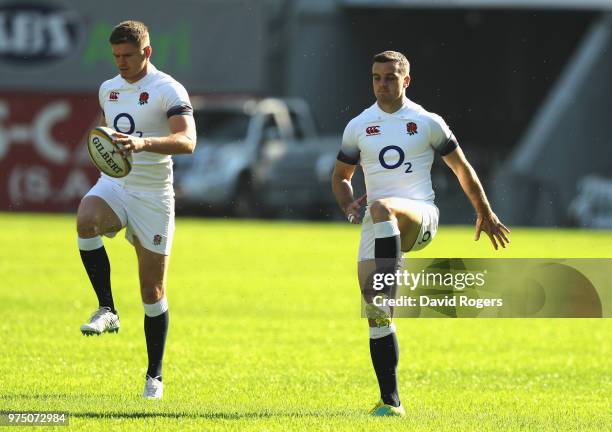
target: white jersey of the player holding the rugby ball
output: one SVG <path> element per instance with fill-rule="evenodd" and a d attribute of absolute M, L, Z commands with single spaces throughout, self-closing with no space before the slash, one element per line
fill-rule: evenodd
<path fill-rule="evenodd" d="M 168 118 L 193 115 L 185 88 L 149 63 L 147 74 L 135 83 L 117 75 L 104 81 L 98 95 L 108 127 L 138 137 L 170 134 Z M 102 174 L 126 188 L 145 191 L 172 190 L 170 155 L 143 151 L 132 154 L 132 171 L 123 178 Z"/>

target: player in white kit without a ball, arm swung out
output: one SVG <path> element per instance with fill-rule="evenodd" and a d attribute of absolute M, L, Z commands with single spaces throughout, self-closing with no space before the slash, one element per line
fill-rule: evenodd
<path fill-rule="evenodd" d="M 396 51 L 375 55 L 372 84 L 376 103 L 346 126 L 332 187 L 353 224 L 361 223 L 360 208 L 367 201 L 358 278 L 366 301 L 370 354 L 381 393 L 371 414 L 405 416 L 397 389 L 399 350 L 392 311 L 373 305 L 371 275 L 394 272 L 402 252 L 422 249 L 435 237 L 439 212 L 430 174 L 434 153 L 440 154 L 455 173 L 476 210 L 475 239 L 484 231 L 495 249 L 498 245 L 505 247 L 509 230 L 491 210 L 476 172 L 444 120 L 406 97 L 410 84 L 406 57 Z M 355 199 L 351 178 L 357 164 L 364 172 L 366 195 Z"/>

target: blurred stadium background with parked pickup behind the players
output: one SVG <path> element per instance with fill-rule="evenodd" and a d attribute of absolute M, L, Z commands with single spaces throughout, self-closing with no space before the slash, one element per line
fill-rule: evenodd
<path fill-rule="evenodd" d="M 164 10 L 161 0 L 0 1 L 1 210 L 76 209 L 97 177 L 83 146 L 97 89 L 116 74 L 108 34 L 137 18 L 152 31 L 153 62 L 201 111 L 200 154 L 176 162 L 179 214 L 337 217 L 329 173 L 340 135 L 372 103 L 372 54 L 396 49 L 412 63 L 409 97 L 447 119 L 505 222 L 612 226 L 608 0 Z M 451 175 L 436 162 L 441 222 L 469 223 Z"/>

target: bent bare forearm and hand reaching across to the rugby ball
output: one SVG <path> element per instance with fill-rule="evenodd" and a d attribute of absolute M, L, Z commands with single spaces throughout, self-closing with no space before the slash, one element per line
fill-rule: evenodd
<path fill-rule="evenodd" d="M 124 153 L 148 151 L 167 155 L 193 153 L 196 146 L 196 129 L 193 116 L 173 115 L 168 119 L 170 135 L 165 137 L 140 138 L 115 132 L 117 144 L 123 146 Z"/>

